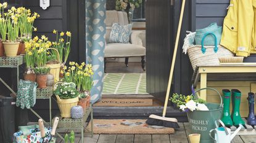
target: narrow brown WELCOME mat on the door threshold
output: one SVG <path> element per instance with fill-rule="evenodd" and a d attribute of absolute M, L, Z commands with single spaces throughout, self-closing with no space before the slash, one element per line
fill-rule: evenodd
<path fill-rule="evenodd" d="M 94 106 L 106 107 L 137 107 L 137 106 L 152 106 L 153 99 L 118 99 L 118 98 L 102 98 L 101 101 L 94 104 Z"/>

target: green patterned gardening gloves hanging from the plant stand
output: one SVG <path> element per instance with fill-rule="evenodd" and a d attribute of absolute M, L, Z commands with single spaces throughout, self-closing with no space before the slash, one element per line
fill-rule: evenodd
<path fill-rule="evenodd" d="M 17 92 L 16 106 L 20 106 L 22 109 L 25 107 L 30 109 L 30 107 L 35 106 L 37 86 L 38 84 L 36 82 L 30 82 L 21 79 Z"/>

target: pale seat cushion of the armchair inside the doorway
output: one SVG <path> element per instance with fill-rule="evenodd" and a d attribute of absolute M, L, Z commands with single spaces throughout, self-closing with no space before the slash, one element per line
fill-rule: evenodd
<path fill-rule="evenodd" d="M 146 48 L 140 45 L 109 43 L 105 47 L 105 58 L 144 55 L 146 55 Z"/>

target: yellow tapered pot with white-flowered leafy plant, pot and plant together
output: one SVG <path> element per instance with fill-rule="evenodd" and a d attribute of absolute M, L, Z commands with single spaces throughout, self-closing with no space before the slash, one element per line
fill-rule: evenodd
<path fill-rule="evenodd" d="M 54 86 L 54 94 L 60 109 L 61 117 L 71 117 L 70 110 L 77 106 L 79 92 L 73 82 L 59 82 Z"/>

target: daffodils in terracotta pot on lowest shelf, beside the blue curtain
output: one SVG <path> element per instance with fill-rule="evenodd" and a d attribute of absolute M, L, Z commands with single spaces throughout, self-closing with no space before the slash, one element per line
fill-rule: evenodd
<path fill-rule="evenodd" d="M 74 82 L 77 90 L 81 93 L 78 105 L 82 106 L 85 110 L 90 104 L 90 91 L 93 87 L 93 69 L 91 64 L 80 65 L 75 62 L 70 62 L 67 68 L 64 66 L 64 80 L 67 82 Z"/>

